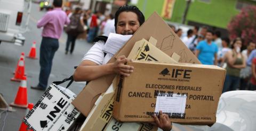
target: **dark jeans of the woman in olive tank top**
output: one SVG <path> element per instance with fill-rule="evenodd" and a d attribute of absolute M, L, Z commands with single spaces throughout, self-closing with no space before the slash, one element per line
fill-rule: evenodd
<path fill-rule="evenodd" d="M 226 75 L 222 93 L 227 91 L 235 91 L 237 88 L 239 88 L 239 85 L 240 77 Z"/>

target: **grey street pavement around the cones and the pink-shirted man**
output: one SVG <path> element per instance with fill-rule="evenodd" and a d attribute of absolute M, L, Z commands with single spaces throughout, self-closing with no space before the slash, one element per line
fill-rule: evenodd
<path fill-rule="evenodd" d="M 27 3 L 25 8 L 27 7 Z M 26 37 L 25 45 L 22 47 L 15 46 L 12 43 L 2 42 L 0 45 L 0 93 L 3 94 L 7 103 L 11 103 L 15 99 L 15 95 L 19 88 L 19 82 L 12 82 L 10 78 L 13 77 L 13 71 L 17 66 L 21 52 L 25 52 L 25 55 L 29 54 L 33 41 L 36 41 L 36 55 L 39 57 L 39 47 L 41 44 L 41 32 L 42 29 L 37 29 L 36 22 L 42 18 L 45 11 L 39 12 L 38 4 L 33 4 L 29 19 L 29 31 L 23 33 Z M 27 15 L 23 16 L 23 23 L 26 23 Z M 87 43 L 85 40 L 77 40 L 75 49 L 72 55 L 65 55 L 67 34 L 62 33 L 59 40 L 59 49 L 55 53 L 52 65 L 52 71 L 49 78 L 49 83 L 53 81 L 61 81 L 63 78 L 68 78 L 74 73 L 74 66 L 77 66 L 87 50 L 90 49 L 92 43 Z M 39 59 L 25 58 L 26 73 L 27 73 L 27 92 L 28 102 L 36 103 L 44 91 L 38 91 L 30 89 L 31 85 L 37 85 L 39 76 Z M 66 84 L 63 84 L 65 86 Z M 85 86 L 85 82 L 73 82 L 69 89 L 78 94 Z M 7 112 L 8 115 L 5 120 L 5 126 L 3 130 L 19 130 L 21 120 L 26 115 L 26 109 L 13 108 L 16 111 Z M 2 110 L 0 110 L 0 113 Z M 0 130 L 3 127 L 3 120 L 6 113 L 2 113 L 0 116 Z"/>

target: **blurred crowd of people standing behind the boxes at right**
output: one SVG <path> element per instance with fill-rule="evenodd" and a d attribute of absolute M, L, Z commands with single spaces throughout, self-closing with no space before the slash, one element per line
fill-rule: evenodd
<path fill-rule="evenodd" d="M 182 36 L 182 29 L 171 28 L 193 51 L 202 64 L 218 65 L 227 71 L 222 92 L 234 90 L 256 90 L 256 43 L 245 43 L 242 38 L 230 40 L 220 31 L 207 27 L 189 29 Z"/>

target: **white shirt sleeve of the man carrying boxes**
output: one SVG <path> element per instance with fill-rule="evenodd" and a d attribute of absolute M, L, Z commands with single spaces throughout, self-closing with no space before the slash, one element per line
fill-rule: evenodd
<path fill-rule="evenodd" d="M 102 65 L 104 59 L 104 53 L 102 51 L 103 47 L 103 41 L 95 42 L 91 49 L 84 55 L 82 60 L 91 60 L 98 65 Z"/>

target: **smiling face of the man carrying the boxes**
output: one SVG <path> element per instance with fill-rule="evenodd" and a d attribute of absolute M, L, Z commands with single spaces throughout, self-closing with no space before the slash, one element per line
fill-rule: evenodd
<path fill-rule="evenodd" d="M 133 12 L 122 12 L 119 14 L 116 25 L 116 33 L 133 34 L 140 27 L 137 14 Z"/>

